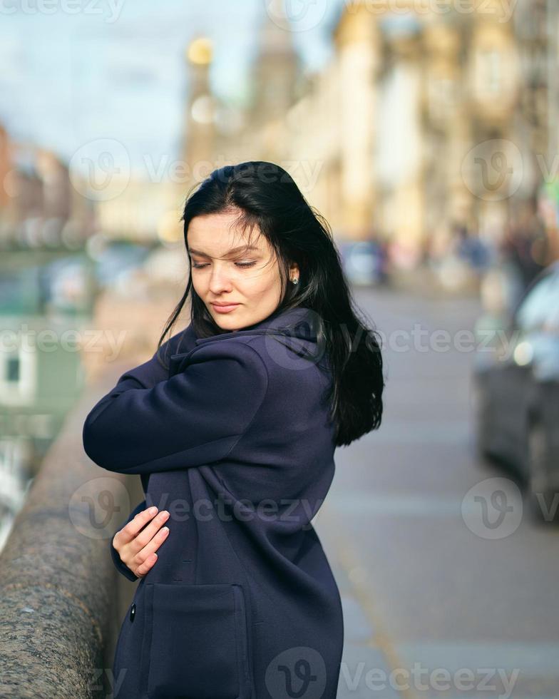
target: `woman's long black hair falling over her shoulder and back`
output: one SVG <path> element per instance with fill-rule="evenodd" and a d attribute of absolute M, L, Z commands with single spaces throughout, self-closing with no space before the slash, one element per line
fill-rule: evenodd
<path fill-rule="evenodd" d="M 368 327 L 344 277 L 327 221 L 302 195 L 294 180 L 275 163 L 252 160 L 225 165 L 189 193 L 183 216 L 235 212 L 240 230 L 265 235 L 279 262 L 282 295 L 275 313 L 303 306 L 320 319 L 317 343 L 324 347 L 332 373 L 327 400 L 336 425 L 335 444 L 345 446 L 378 429 L 382 417 L 383 361 L 378 333 Z M 189 263 L 190 263 L 190 257 Z M 289 263 L 299 267 L 299 283 L 289 283 Z M 190 316 L 197 337 L 224 332 L 207 311 L 189 275 L 183 297 L 171 313 L 158 349 L 190 294 Z"/>

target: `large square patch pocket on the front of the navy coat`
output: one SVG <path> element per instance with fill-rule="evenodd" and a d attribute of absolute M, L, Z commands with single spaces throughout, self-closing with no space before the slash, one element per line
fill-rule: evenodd
<path fill-rule="evenodd" d="M 249 699 L 242 586 L 145 583 L 149 699 Z"/>

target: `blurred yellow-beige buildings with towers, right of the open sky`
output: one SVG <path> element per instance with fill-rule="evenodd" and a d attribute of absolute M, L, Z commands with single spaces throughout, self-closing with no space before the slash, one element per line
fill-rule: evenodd
<path fill-rule="evenodd" d="M 203 61 L 194 51 L 189 169 L 225 164 L 225 154 L 274 160 L 338 238 L 389 240 L 402 265 L 456 230 L 498 244 L 520 212 L 535 214 L 538 188 L 554 175 L 555 11 L 545 0 L 518 0 L 510 17 L 498 0 L 470 12 L 405 5 L 393 13 L 388 0 L 344 4 L 332 59 L 313 76 L 302 74 L 291 33 L 264 21 L 261 89 L 236 128 L 220 128 L 211 51 Z M 200 104 L 211 105 L 204 118 Z"/>

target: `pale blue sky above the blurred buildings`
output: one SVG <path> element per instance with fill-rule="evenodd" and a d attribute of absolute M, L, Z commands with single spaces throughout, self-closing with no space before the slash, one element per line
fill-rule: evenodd
<path fill-rule="evenodd" d="M 133 162 L 140 153 L 178 157 L 185 46 L 210 36 L 215 93 L 242 99 L 270 1 L 0 0 L 0 122 L 65 160 L 96 139 L 116 139 Z M 342 0 L 287 3 L 299 19 L 305 4 L 314 11 L 292 38 L 305 70 L 317 71 Z"/>

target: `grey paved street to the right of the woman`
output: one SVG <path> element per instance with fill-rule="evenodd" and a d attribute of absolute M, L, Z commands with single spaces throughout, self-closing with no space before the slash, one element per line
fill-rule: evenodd
<path fill-rule="evenodd" d="M 357 300 L 392 347 L 381 428 L 337 450 L 314 520 L 344 602 L 339 699 L 558 697 L 559 529 L 522 515 L 510 476 L 477 463 L 473 345 L 453 343 L 478 302 Z M 450 332 L 442 351 L 436 330 Z M 512 508 L 492 527 L 493 477 Z"/>

